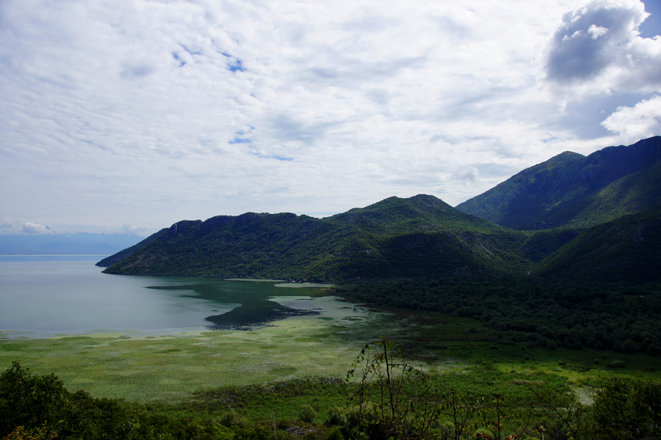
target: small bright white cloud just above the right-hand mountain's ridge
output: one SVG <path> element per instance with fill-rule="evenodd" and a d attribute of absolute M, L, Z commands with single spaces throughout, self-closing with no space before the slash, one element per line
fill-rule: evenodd
<path fill-rule="evenodd" d="M 623 143 L 661 134 L 661 97 L 639 102 L 633 107 L 621 106 L 602 125 L 616 133 Z"/>

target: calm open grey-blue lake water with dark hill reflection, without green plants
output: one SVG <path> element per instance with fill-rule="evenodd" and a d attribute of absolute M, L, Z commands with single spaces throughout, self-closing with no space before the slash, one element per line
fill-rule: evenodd
<path fill-rule="evenodd" d="M 0 255 L 0 329 L 22 332 L 244 328 L 315 313 L 273 297 L 311 297 L 318 288 L 206 278 L 101 274 L 104 255 Z M 29 334 L 28 334 L 29 336 Z"/>

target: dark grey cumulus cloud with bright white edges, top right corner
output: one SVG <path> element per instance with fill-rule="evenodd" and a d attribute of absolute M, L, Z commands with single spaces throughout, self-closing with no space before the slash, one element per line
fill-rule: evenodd
<path fill-rule="evenodd" d="M 548 50 L 548 80 L 559 85 L 592 82 L 592 92 L 657 90 L 661 39 L 639 36 L 648 16 L 638 0 L 594 0 L 564 14 Z"/>

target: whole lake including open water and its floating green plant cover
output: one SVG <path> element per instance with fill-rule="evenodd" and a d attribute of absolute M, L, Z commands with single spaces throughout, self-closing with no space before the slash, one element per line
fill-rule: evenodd
<path fill-rule="evenodd" d="M 319 287 L 107 275 L 101 257 L 0 255 L 0 370 L 20 361 L 94 397 L 178 402 L 343 377 L 364 343 L 397 327 Z"/>

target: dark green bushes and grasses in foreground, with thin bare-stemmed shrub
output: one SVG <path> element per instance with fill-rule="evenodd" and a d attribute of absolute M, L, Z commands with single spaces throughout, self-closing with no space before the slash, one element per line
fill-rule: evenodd
<path fill-rule="evenodd" d="M 477 370 L 495 377 L 487 366 Z M 346 381 L 298 380 L 202 392 L 197 404 L 185 405 L 189 413 L 184 414 L 180 405 L 177 412 L 169 411 L 176 405 L 69 392 L 54 375 L 36 376 L 14 362 L 0 375 L 0 439 L 661 438 L 661 383 L 612 378 L 596 390 L 594 403 L 585 405 L 565 385 L 541 380 L 507 384 L 508 376 L 501 374 L 501 383 L 484 393 L 471 386 L 469 374 L 464 381 L 456 374 L 428 374 L 406 360 L 395 343 L 382 339 L 362 349 Z M 332 399 L 313 398 L 326 395 Z M 246 402 L 269 402 L 278 415 L 274 410 L 250 413 L 249 406 L 259 405 Z M 290 415 L 283 416 L 283 408 Z"/>

